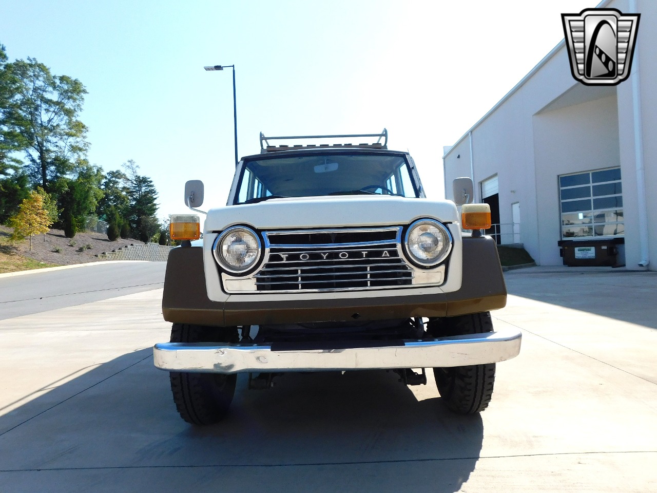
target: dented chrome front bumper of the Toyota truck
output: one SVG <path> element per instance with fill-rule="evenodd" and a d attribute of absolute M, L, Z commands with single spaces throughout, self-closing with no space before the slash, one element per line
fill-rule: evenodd
<path fill-rule="evenodd" d="M 346 349 L 272 350 L 269 345 L 206 342 L 155 344 L 155 366 L 194 373 L 270 373 L 355 369 L 428 368 L 510 360 L 520 353 L 516 331 L 404 340 L 400 346 Z M 357 342 L 355 342 L 357 344 Z"/>

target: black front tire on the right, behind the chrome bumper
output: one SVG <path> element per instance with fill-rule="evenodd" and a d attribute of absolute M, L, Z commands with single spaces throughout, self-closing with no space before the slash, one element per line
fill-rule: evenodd
<path fill-rule="evenodd" d="M 447 317 L 429 321 L 433 337 L 480 334 L 493 331 L 489 312 Z M 458 414 L 474 414 L 485 410 L 493 395 L 495 363 L 484 365 L 434 368 L 436 387 L 447 408 Z"/>

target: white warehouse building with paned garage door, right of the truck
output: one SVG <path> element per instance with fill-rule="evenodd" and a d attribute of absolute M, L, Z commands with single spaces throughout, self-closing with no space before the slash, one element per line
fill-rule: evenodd
<path fill-rule="evenodd" d="M 474 202 L 498 224 L 487 233 L 522 243 L 539 265 L 657 270 L 657 2 L 597 7 L 641 14 L 629 78 L 577 82 L 562 41 L 445 147 L 445 196 L 472 177 Z"/>

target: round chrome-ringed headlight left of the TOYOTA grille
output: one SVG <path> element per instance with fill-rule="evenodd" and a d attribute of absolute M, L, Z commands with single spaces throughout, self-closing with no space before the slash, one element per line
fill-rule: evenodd
<path fill-rule="evenodd" d="M 226 271 L 242 273 L 252 268 L 260 258 L 260 239 L 248 227 L 229 227 L 214 241 L 212 253 Z"/>

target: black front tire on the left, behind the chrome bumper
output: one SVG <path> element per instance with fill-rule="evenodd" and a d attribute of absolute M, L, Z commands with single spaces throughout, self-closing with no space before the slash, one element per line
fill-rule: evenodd
<path fill-rule="evenodd" d="M 174 323 L 171 342 L 237 342 L 237 328 Z M 237 375 L 170 371 L 173 402 L 180 416 L 193 425 L 221 421 L 235 394 Z"/>

